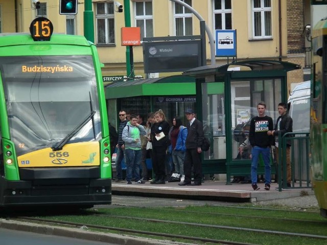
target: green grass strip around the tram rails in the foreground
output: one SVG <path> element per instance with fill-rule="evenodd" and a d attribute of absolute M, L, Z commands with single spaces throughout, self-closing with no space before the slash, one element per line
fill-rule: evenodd
<path fill-rule="evenodd" d="M 227 230 L 220 228 L 189 226 L 184 224 L 156 223 L 144 220 L 110 216 L 131 216 L 171 220 L 173 222 L 189 222 L 197 224 L 327 236 L 327 220 L 320 217 L 318 212 L 281 210 L 276 209 L 276 207 L 273 207 L 273 210 L 269 210 L 266 206 L 264 208 L 265 209 L 251 209 L 235 206 L 190 206 L 179 208 L 119 207 L 89 210 L 82 212 L 82 214 L 75 215 L 43 216 L 42 218 L 77 222 L 85 224 L 86 226 L 88 224 L 92 224 L 108 227 L 135 229 L 141 231 L 163 232 L 176 235 L 247 242 L 254 244 L 327 244 L 327 240 L 317 238 L 274 235 L 253 231 Z M 90 215 L 95 213 L 100 215 Z M 167 240 L 170 238 L 163 239 Z M 170 240 L 176 241 L 178 239 L 172 238 Z"/>

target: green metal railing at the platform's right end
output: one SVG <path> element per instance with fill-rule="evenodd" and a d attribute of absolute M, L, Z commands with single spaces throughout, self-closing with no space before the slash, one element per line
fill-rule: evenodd
<path fill-rule="evenodd" d="M 290 143 L 291 187 L 287 186 L 287 143 Z M 309 166 L 309 133 L 286 133 L 278 135 L 278 190 L 311 188 Z M 281 164 L 282 163 L 282 164 Z M 285 169 L 285 170 L 284 170 Z M 296 184 L 295 184 L 296 183 Z"/>

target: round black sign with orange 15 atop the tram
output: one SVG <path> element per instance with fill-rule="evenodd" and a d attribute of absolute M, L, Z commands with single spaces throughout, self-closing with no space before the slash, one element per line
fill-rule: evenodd
<path fill-rule="evenodd" d="M 37 17 L 31 22 L 30 33 L 34 41 L 50 41 L 53 25 L 49 19 Z"/>

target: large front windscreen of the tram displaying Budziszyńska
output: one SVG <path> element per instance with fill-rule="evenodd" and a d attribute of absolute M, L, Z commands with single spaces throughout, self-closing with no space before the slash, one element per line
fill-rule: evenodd
<path fill-rule="evenodd" d="M 52 147 L 95 115 L 68 143 L 101 136 L 95 71 L 91 56 L 0 59 L 11 140 L 17 155 Z"/>

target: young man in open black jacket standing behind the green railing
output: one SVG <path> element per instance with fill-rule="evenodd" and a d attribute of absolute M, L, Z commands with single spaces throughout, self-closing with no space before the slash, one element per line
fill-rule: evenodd
<path fill-rule="evenodd" d="M 268 135 L 275 137 L 275 151 L 276 160 L 278 163 L 278 152 L 281 145 L 278 145 L 278 136 L 283 136 L 286 133 L 293 132 L 293 119 L 287 113 L 287 104 L 282 102 L 278 104 L 279 117 L 277 118 L 274 130 L 268 131 Z M 287 187 L 291 187 L 292 182 L 292 169 L 291 169 L 291 156 L 290 156 L 291 141 L 287 140 L 286 143 L 286 178 Z"/>

